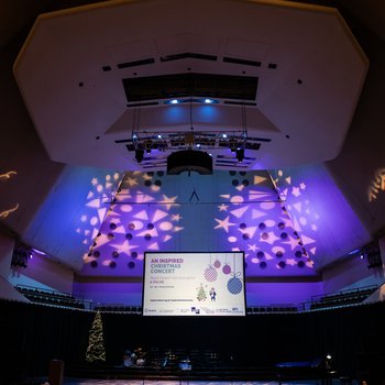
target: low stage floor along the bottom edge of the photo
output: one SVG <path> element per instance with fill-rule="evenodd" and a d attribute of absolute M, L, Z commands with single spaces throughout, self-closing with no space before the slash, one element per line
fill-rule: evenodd
<path fill-rule="evenodd" d="M 279 369 L 256 369 L 256 367 L 232 367 L 211 370 L 167 370 L 148 367 L 124 367 L 124 366 L 82 366 L 67 369 L 64 371 L 63 381 L 61 375 L 56 376 L 55 385 L 100 385 L 100 384 L 133 384 L 133 385 L 284 385 L 284 384 L 307 384 L 307 385 L 359 385 L 358 382 L 349 378 L 340 378 L 337 375 L 324 375 L 317 371 L 304 370 L 301 367 L 293 371 L 280 372 Z M 31 385 L 42 385 L 45 382 L 52 383 L 50 376 L 35 378 Z"/>

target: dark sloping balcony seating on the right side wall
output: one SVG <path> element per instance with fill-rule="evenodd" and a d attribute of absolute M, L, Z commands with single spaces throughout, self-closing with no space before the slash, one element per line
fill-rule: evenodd
<path fill-rule="evenodd" d="M 311 298 L 310 310 L 362 304 L 376 289 L 377 286 L 369 286 L 353 290 L 332 293 L 324 296 L 315 296 Z"/>

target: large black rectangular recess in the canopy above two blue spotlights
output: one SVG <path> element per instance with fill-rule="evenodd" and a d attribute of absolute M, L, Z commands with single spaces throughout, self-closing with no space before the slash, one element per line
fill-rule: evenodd
<path fill-rule="evenodd" d="M 122 81 L 128 102 L 186 97 L 255 101 L 258 78 L 188 73 Z"/>

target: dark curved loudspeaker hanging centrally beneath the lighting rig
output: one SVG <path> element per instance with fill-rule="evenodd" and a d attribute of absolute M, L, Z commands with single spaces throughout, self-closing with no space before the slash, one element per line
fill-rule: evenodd
<path fill-rule="evenodd" d="M 183 172 L 197 172 L 201 175 L 212 174 L 212 157 L 202 151 L 184 150 L 167 157 L 167 174 L 179 175 Z"/>

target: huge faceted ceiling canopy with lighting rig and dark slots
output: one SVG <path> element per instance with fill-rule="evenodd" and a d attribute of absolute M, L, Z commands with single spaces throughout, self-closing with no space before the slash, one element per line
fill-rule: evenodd
<path fill-rule="evenodd" d="M 216 169 L 246 170 L 336 157 L 367 68 L 332 8 L 144 0 L 41 14 L 14 75 L 53 161 L 165 169 L 172 152 L 194 147 Z"/>

